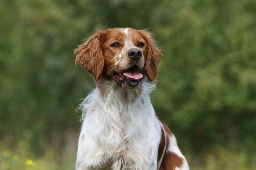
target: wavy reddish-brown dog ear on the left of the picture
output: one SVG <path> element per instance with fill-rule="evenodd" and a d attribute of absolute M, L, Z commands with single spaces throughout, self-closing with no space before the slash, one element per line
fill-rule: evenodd
<path fill-rule="evenodd" d="M 102 43 L 105 40 L 106 33 L 98 32 L 88 38 L 83 44 L 75 49 L 75 63 L 83 66 L 97 82 L 104 67 L 104 55 Z"/>

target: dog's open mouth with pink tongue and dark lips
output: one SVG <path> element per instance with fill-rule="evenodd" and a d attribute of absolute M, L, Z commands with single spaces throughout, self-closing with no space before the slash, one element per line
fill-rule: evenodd
<path fill-rule="evenodd" d="M 125 85 L 126 83 L 132 87 L 140 83 L 140 79 L 143 77 L 137 70 L 137 66 L 133 65 L 131 68 L 124 72 L 113 71 L 114 79 L 117 85 Z"/>

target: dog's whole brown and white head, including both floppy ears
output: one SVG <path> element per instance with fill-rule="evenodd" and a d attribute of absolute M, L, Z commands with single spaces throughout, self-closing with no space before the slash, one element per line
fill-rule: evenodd
<path fill-rule="evenodd" d="M 118 86 L 136 89 L 147 75 L 156 81 L 162 53 L 150 33 L 132 28 L 114 28 L 98 32 L 75 50 L 76 63 L 97 82 L 114 80 Z"/>

